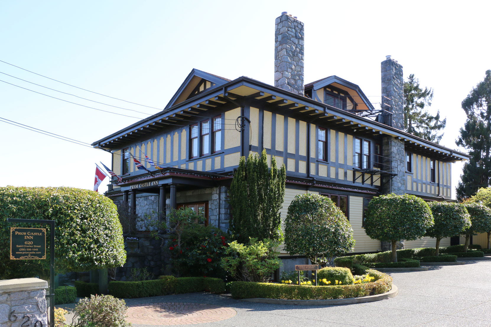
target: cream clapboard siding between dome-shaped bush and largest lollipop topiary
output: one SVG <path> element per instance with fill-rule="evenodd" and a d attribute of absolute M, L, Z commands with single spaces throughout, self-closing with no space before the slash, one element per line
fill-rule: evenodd
<path fill-rule="evenodd" d="M 380 241 L 371 239 L 361 226 L 363 220 L 363 198 L 349 197 L 350 224 L 353 228 L 355 250 L 353 252 L 374 252 L 380 250 Z"/>

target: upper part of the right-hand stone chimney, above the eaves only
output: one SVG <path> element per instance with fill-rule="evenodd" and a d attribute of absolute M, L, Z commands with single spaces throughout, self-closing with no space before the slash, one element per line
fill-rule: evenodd
<path fill-rule="evenodd" d="M 404 78 L 402 65 L 390 55 L 382 61 L 382 106 L 392 115 L 384 117 L 384 124 L 404 130 Z"/>

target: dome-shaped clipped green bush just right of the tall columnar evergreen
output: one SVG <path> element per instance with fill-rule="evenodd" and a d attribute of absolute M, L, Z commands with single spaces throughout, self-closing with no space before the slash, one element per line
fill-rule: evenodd
<path fill-rule="evenodd" d="M 325 266 L 354 246 L 353 228 L 333 201 L 317 194 L 293 199 L 285 220 L 286 252 L 303 254 L 313 264 Z"/>

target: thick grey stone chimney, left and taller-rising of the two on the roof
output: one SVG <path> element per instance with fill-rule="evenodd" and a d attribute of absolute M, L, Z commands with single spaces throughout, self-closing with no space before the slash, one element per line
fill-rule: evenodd
<path fill-rule="evenodd" d="M 274 24 L 274 86 L 303 95 L 303 23 L 284 11 Z"/>

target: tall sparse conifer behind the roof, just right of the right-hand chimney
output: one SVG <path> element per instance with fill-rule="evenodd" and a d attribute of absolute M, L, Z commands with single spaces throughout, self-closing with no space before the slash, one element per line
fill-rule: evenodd
<path fill-rule="evenodd" d="M 419 86 L 419 80 L 414 74 L 409 75 L 404 82 L 404 130 L 428 141 L 438 143 L 443 134 L 438 131 L 445 128 L 447 119 L 440 120 L 440 111 L 435 116 L 425 109 L 431 106 L 433 89 Z"/>

